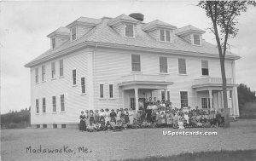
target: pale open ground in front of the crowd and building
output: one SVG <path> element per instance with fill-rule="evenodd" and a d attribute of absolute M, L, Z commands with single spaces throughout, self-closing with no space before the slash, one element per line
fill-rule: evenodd
<path fill-rule="evenodd" d="M 256 160 L 256 120 L 230 129 L 3 129 L 2 160 Z M 163 135 L 163 130 L 211 131 L 218 135 Z M 44 151 L 45 150 L 45 151 Z M 54 151 L 54 152 L 52 152 Z"/>

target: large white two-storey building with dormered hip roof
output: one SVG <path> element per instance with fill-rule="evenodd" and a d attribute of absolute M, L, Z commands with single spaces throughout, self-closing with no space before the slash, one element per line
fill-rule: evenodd
<path fill-rule="evenodd" d="M 223 108 L 218 49 L 195 26 L 177 28 L 143 14 L 80 17 L 47 37 L 50 49 L 28 62 L 31 124 L 77 128 L 81 111 L 138 109 L 139 98 L 172 106 Z M 230 116 L 239 116 L 235 61 L 226 54 Z"/>

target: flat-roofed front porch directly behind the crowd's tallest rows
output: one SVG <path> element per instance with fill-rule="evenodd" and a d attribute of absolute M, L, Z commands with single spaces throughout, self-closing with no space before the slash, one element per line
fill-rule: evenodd
<path fill-rule="evenodd" d="M 172 85 L 164 75 L 132 74 L 121 78 L 119 88 L 122 90 L 123 107 L 138 110 L 139 98 L 167 98 L 167 86 Z M 164 94 L 164 95 L 162 95 Z"/>

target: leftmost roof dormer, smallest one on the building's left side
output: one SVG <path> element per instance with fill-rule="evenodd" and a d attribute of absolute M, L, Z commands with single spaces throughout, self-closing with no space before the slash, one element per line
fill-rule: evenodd
<path fill-rule="evenodd" d="M 66 27 L 60 27 L 55 32 L 51 32 L 47 37 L 50 38 L 50 47 L 55 49 L 61 44 L 69 41 L 69 29 Z"/>

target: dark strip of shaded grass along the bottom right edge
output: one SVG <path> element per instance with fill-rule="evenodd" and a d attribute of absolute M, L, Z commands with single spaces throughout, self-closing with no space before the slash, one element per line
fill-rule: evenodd
<path fill-rule="evenodd" d="M 255 161 L 256 149 L 244 151 L 214 151 L 181 153 L 169 157 L 149 157 L 139 159 L 125 159 L 124 161 Z"/>

